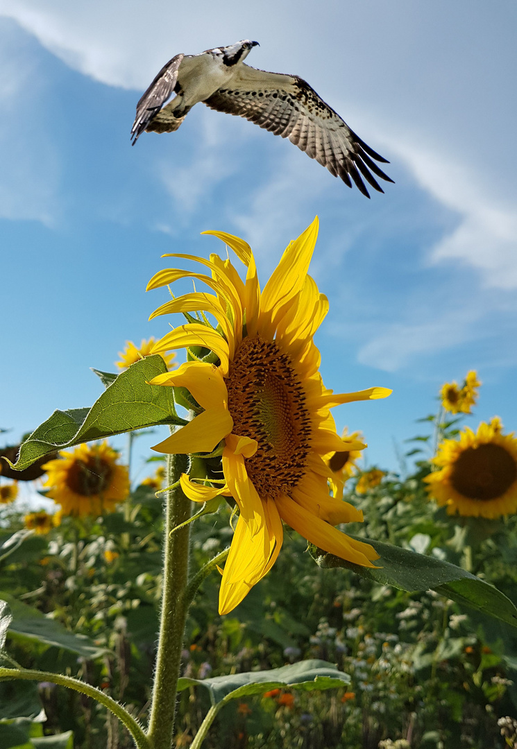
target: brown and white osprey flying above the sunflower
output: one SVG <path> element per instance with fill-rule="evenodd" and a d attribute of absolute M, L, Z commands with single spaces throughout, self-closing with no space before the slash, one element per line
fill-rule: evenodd
<path fill-rule="evenodd" d="M 194 104 L 202 101 L 211 109 L 245 117 L 288 138 L 348 187 L 352 187 L 352 178 L 367 198 L 369 192 L 363 178 L 378 192 L 384 192 L 373 175 L 387 182 L 393 180 L 373 159 L 389 162 L 350 130 L 302 78 L 267 73 L 244 64 L 257 45 L 258 42 L 244 39 L 207 49 L 200 55 L 175 55 L 136 105 L 131 129 L 133 145 L 144 130 L 178 130 Z M 176 96 L 166 104 L 172 94 Z"/>

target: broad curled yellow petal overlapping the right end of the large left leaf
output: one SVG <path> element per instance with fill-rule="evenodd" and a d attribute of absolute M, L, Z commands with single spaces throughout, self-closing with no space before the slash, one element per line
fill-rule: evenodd
<path fill-rule="evenodd" d="M 228 403 L 228 388 L 223 376 L 217 366 L 206 362 L 185 362 L 173 372 L 153 377 L 149 384 L 186 387 L 205 409 L 226 407 Z"/>

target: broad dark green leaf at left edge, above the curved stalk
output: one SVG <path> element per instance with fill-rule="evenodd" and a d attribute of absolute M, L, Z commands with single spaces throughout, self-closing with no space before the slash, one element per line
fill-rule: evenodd
<path fill-rule="evenodd" d="M 8 625 L 10 637 L 16 640 L 36 640 L 46 646 L 64 648 L 82 655 L 84 658 L 98 658 L 105 650 L 97 647 L 89 637 L 68 631 L 59 622 L 49 619 L 37 609 L 16 601 L 10 593 L 0 591 L 0 601 L 7 602 L 12 615 Z M 4 617 L 8 616 L 8 608 L 4 607 Z M 0 631 L 2 622 L 0 609 Z"/>

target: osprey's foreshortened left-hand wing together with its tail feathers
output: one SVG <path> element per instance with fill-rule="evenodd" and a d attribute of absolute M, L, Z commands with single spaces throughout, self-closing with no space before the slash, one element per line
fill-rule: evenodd
<path fill-rule="evenodd" d="M 166 112 L 167 107 L 162 112 L 160 109 L 176 88 L 178 70 L 184 56 L 181 52 L 163 66 L 136 105 L 136 118 L 131 128 L 133 145 L 144 130 L 157 130 L 158 133 L 164 133 L 169 130 L 178 130 L 183 122 L 184 118 L 175 119 L 171 112 Z M 159 112 L 161 118 L 157 119 L 156 115 Z"/>

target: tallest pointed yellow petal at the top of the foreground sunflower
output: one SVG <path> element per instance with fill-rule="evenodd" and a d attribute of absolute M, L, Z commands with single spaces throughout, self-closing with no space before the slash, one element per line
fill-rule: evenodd
<path fill-rule="evenodd" d="M 267 337 L 273 336 L 276 324 L 282 317 L 282 308 L 303 287 L 312 252 L 318 237 L 318 216 L 312 224 L 292 242 L 280 258 L 265 285 L 261 297 L 261 324 Z"/>

